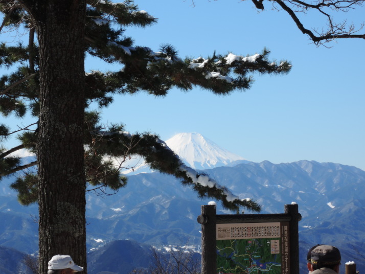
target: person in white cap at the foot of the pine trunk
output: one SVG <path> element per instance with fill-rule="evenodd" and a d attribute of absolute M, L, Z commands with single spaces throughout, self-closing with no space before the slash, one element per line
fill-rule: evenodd
<path fill-rule="evenodd" d="M 82 266 L 74 263 L 69 255 L 56 255 L 48 262 L 47 274 L 72 274 L 82 271 Z"/>

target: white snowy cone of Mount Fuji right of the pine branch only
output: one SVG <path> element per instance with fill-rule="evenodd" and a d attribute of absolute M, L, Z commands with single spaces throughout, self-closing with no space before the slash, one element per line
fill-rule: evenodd
<path fill-rule="evenodd" d="M 178 133 L 167 140 L 166 144 L 179 155 L 181 161 L 194 169 L 214 168 L 244 160 L 199 133 Z"/>

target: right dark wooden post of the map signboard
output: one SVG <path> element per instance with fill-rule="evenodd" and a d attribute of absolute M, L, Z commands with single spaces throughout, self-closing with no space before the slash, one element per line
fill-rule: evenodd
<path fill-rule="evenodd" d="M 289 241 L 290 241 L 290 274 L 299 274 L 299 221 L 302 215 L 298 212 L 298 204 L 285 204 L 285 214 L 291 216 L 289 222 Z"/>

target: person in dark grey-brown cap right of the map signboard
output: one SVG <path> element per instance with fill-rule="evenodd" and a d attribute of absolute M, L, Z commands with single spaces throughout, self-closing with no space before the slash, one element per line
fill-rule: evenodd
<path fill-rule="evenodd" d="M 310 252 L 308 270 L 311 274 L 338 274 L 341 254 L 332 245 L 317 245 Z"/>

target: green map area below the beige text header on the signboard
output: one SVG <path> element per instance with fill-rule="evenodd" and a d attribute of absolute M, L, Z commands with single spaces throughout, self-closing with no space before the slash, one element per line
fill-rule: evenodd
<path fill-rule="evenodd" d="M 217 273 L 281 274 L 281 253 L 271 254 L 271 240 L 217 240 Z"/>

